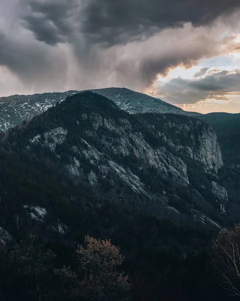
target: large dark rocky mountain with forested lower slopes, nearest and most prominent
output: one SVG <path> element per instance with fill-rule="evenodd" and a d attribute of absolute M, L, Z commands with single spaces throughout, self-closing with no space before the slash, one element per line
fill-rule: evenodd
<path fill-rule="evenodd" d="M 42 300 L 66 300 L 56 271 L 73 279 L 84 235 L 121 247 L 131 300 L 228 299 L 205 252 L 232 211 L 238 220 L 239 178 L 205 122 L 129 114 L 102 95 L 74 94 L 0 134 L 0 170 L 0 241 L 11 246 L 10 256 L 0 252 L 5 299 L 39 300 L 25 264 L 36 251 L 29 233 L 39 239 Z M 39 256 L 49 249 L 54 259 Z"/>

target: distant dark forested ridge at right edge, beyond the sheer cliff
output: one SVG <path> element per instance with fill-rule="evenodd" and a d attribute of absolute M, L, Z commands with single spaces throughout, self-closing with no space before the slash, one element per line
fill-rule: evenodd
<path fill-rule="evenodd" d="M 240 168 L 240 114 L 209 113 L 197 118 L 216 131 L 225 165 Z"/>

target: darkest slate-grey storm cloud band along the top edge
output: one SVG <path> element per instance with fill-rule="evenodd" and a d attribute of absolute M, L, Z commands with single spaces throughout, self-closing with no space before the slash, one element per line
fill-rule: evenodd
<path fill-rule="evenodd" d="M 73 30 L 105 46 L 144 39 L 165 28 L 211 24 L 239 9 L 238 0 L 23 0 L 23 19 L 40 41 L 69 39 Z"/>

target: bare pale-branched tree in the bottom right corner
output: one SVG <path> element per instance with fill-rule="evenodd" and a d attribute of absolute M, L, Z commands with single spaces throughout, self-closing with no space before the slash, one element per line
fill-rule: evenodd
<path fill-rule="evenodd" d="M 221 230 L 213 241 L 213 265 L 231 295 L 240 297 L 240 226 Z"/>

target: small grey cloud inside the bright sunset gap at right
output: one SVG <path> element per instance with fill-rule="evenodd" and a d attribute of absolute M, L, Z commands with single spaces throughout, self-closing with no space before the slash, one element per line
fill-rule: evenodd
<path fill-rule="evenodd" d="M 163 94 L 165 99 L 174 104 L 195 103 L 211 95 L 238 93 L 239 82 L 240 70 L 234 72 L 222 70 L 196 80 L 174 78 L 161 87 L 158 93 Z"/>

